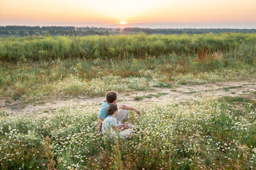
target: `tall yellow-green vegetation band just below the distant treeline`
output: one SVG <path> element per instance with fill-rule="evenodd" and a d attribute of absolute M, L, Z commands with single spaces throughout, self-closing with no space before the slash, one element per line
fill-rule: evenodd
<path fill-rule="evenodd" d="M 255 33 L 222 33 L 205 35 L 110 35 L 87 37 L 24 37 L 0 38 L 0 59 L 6 62 L 23 60 L 58 60 L 67 58 L 126 59 L 159 55 L 195 57 L 198 49 L 223 52 L 225 61 L 236 58 L 253 64 Z M 218 69 L 223 62 L 213 60 L 208 67 Z M 230 63 L 229 63 L 230 64 Z"/>

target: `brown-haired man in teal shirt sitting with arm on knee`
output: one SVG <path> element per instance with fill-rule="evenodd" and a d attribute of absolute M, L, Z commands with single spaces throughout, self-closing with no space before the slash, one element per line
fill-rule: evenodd
<path fill-rule="evenodd" d="M 119 106 L 119 109 L 122 109 L 122 111 L 119 111 L 119 114 L 115 117 L 117 119 L 117 124 L 119 125 L 118 128 L 126 127 L 128 124 L 124 124 L 125 121 L 129 118 L 129 111 L 133 110 L 138 115 L 140 115 L 140 111 L 137 108 L 134 108 L 129 105 L 125 104 L 119 104 L 117 103 L 117 91 L 107 91 L 106 94 L 106 101 L 102 103 L 102 106 L 100 107 L 98 121 L 97 121 L 97 133 L 101 131 L 102 128 L 102 121 L 107 118 L 107 107 L 110 106 L 110 104 L 117 104 Z M 132 125 L 128 125 L 129 128 L 133 128 Z"/>

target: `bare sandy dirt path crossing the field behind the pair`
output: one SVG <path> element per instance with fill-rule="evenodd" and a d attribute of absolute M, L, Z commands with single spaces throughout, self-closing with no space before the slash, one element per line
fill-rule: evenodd
<path fill-rule="evenodd" d="M 119 103 L 126 103 L 132 106 L 147 103 L 164 103 L 174 102 L 183 103 L 196 98 L 207 98 L 211 96 L 242 96 L 256 100 L 256 82 L 255 80 L 247 81 L 229 81 L 215 84 L 203 85 L 181 85 L 174 86 L 173 88 L 152 88 L 149 91 L 132 91 L 119 94 Z M 56 108 L 65 105 L 80 104 L 86 105 L 87 103 L 98 103 L 99 105 L 105 101 L 105 96 L 88 98 L 81 96 L 80 98 L 72 98 L 69 100 L 56 100 L 56 101 L 43 101 L 42 104 L 29 104 L 24 108 L 11 109 L 11 113 L 52 113 Z M 8 105 L 4 101 L 0 102 L 0 107 L 4 108 Z M 9 103 L 11 106 L 11 103 Z M 18 109 L 17 109 L 18 108 Z"/>

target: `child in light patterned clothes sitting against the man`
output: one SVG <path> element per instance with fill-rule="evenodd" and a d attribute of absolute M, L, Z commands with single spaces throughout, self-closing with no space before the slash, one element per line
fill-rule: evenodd
<path fill-rule="evenodd" d="M 115 117 L 118 115 L 117 104 L 110 104 L 107 107 L 107 118 L 102 123 L 102 134 L 110 135 L 110 137 L 117 137 L 118 132 L 121 137 L 129 137 L 132 134 L 132 130 L 129 129 L 128 124 L 118 125 Z M 118 130 L 118 132 L 117 132 Z"/>

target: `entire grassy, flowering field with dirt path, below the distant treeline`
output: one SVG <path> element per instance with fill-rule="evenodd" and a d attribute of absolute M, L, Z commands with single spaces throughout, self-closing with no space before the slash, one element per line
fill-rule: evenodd
<path fill-rule="evenodd" d="M 0 169 L 255 169 L 256 35 L 0 38 Z M 96 134 L 107 91 L 137 134 Z M 71 102 L 72 101 L 72 102 Z"/>

